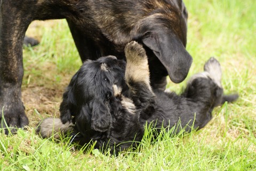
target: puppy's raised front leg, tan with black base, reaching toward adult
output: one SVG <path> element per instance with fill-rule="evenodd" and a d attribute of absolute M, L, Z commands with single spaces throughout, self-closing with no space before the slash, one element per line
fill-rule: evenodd
<path fill-rule="evenodd" d="M 149 103 L 154 100 L 155 94 L 150 86 L 148 58 L 144 48 L 135 41 L 130 42 L 125 47 L 125 56 L 125 81 L 129 86 L 131 99 L 135 105 Z"/>

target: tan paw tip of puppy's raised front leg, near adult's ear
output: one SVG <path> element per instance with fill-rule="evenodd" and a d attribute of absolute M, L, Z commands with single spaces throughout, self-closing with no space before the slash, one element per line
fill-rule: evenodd
<path fill-rule="evenodd" d="M 135 41 L 128 43 L 124 51 L 127 62 L 137 63 L 148 60 L 145 49 Z"/>

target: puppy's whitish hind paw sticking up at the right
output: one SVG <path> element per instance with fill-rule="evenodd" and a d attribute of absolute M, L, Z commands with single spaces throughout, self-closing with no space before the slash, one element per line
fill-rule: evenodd
<path fill-rule="evenodd" d="M 204 64 L 204 71 L 208 72 L 213 81 L 221 87 L 221 67 L 217 59 L 211 57 Z"/>

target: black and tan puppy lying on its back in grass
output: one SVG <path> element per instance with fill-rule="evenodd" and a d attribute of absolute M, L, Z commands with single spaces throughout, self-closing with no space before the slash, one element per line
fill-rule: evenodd
<path fill-rule="evenodd" d="M 141 45 L 127 44 L 125 55 L 126 66 L 115 56 L 86 61 L 63 94 L 60 119 L 44 119 L 37 133 L 48 137 L 53 129 L 64 134 L 73 131 L 72 135 L 77 134 L 74 140 L 82 145 L 93 140 L 97 141 L 95 148 L 118 152 L 135 146 L 133 141 L 141 141 L 147 123 L 156 128 L 177 126 L 177 133 L 180 127 L 186 131 L 201 129 L 223 100 L 221 68 L 214 58 L 177 95 L 153 91 L 147 55 Z M 236 95 L 224 97 L 237 99 Z"/>

